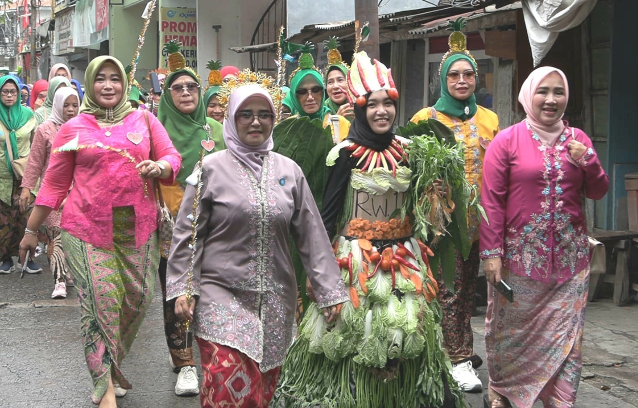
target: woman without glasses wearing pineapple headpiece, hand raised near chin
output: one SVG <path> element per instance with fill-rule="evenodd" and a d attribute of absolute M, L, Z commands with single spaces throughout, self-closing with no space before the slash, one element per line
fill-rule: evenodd
<path fill-rule="evenodd" d="M 325 69 L 325 89 L 328 99 L 323 105 L 330 108 L 332 115 L 340 115 L 352 123 L 355 113 L 347 95 L 348 64 L 341 60 L 338 38 L 330 37 L 329 40 L 323 41 L 323 44 L 324 49 L 328 52 L 328 68 Z"/>

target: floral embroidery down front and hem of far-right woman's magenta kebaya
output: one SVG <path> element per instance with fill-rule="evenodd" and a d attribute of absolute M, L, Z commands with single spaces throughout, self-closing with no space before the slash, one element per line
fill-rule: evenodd
<path fill-rule="evenodd" d="M 529 124 L 527 126 L 532 138 L 540 143 L 538 150 L 543 154 L 544 201 L 540 203 L 542 212 L 531 214 L 530 222 L 522 230 L 508 229 L 508 236 L 505 238 L 505 259 L 522 266 L 528 276 L 534 271 L 542 279 L 546 279 L 549 271 L 555 269 L 551 268 L 551 263 L 557 262 L 562 267 L 561 271 L 569 268 L 573 275 L 579 272 L 576 265 L 579 260 L 589 256 L 589 250 L 584 229 L 574 228 L 571 215 L 563 211 L 561 182 L 565 179 L 562 157 L 565 147 L 559 143 L 549 147 L 540 141 Z M 559 138 L 560 143 L 567 140 L 569 131 L 568 128 L 565 129 Z M 556 243 L 554 249 L 547 244 L 551 242 L 550 235 L 553 235 Z M 563 275 L 564 272 L 560 272 L 558 278 L 562 278 Z"/>

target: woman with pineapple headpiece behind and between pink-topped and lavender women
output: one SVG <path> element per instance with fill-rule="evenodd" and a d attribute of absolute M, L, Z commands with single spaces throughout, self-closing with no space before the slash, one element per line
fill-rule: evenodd
<path fill-rule="evenodd" d="M 186 68 L 177 43 L 169 41 L 165 48 L 170 53 L 170 73 L 159 99 L 158 119 L 166 128 L 175 149 L 182 155 L 182 168 L 175 182 L 171 186 L 161 186 L 161 191 L 168 209 L 176 217 L 186 189 L 186 177 L 193 172 L 200 154 L 225 149 L 225 144 L 221 124 L 206 117 L 197 73 Z M 171 356 L 170 365 L 178 373 L 175 394 L 197 395 L 199 386 L 193 360 L 193 340 L 181 330 L 181 322 L 174 313 L 174 303 L 166 300 L 168 248 L 162 248 L 161 255 L 158 272 L 164 295 L 164 330 Z"/>

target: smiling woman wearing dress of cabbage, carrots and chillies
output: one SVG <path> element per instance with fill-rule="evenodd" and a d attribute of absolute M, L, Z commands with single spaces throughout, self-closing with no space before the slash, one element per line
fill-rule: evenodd
<path fill-rule="evenodd" d="M 286 407 L 460 407 L 441 347 L 431 251 L 400 213 L 412 171 L 408 140 L 392 133 L 398 92 L 390 70 L 355 53 L 357 97 L 348 138 L 327 158 L 322 219 L 350 293 L 336 323 L 310 305 L 283 366 Z"/>

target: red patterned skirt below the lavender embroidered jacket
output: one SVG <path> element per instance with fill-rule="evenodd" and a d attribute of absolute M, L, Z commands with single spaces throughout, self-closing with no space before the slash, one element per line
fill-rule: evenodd
<path fill-rule="evenodd" d="M 202 361 L 202 408 L 267 408 L 281 367 L 261 372 L 259 365 L 232 347 L 197 339 Z"/>

